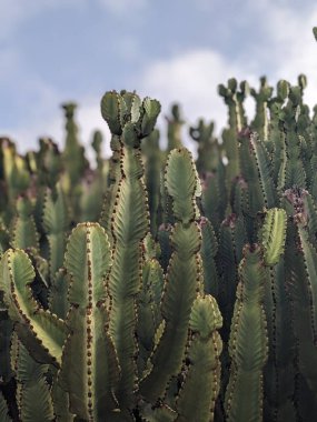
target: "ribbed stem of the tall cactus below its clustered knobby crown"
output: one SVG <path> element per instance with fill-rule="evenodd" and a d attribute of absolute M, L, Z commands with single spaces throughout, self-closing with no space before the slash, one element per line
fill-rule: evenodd
<path fill-rule="evenodd" d="M 147 232 L 147 205 L 145 188 L 138 178 L 122 179 L 118 197 L 113 213 L 116 219 L 112 223 L 116 247 L 109 277 L 109 290 L 112 298 L 110 333 L 115 339 L 122 368 L 120 398 L 126 401 L 136 382 L 135 361 L 131 359 L 136 352 L 132 326 L 136 321 L 135 299 L 140 288 L 140 241 Z M 127 359 L 127 356 L 130 358 Z"/>

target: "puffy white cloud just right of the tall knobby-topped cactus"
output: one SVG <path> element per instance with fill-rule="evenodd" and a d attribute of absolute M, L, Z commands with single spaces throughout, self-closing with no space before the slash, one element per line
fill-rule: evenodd
<path fill-rule="evenodd" d="M 246 67 L 212 50 L 195 50 L 153 62 L 145 70 L 139 84 L 142 94 L 161 102 L 162 114 L 168 113 L 172 102 L 179 102 L 188 123 L 196 123 L 204 117 L 214 120 L 219 132 L 227 121 L 227 107 L 217 93 L 217 86 L 232 77 L 257 83 L 257 78 Z M 251 108 L 248 102 L 248 109 Z M 162 121 L 160 127 L 166 130 Z M 192 147 L 192 142 L 186 142 Z"/>

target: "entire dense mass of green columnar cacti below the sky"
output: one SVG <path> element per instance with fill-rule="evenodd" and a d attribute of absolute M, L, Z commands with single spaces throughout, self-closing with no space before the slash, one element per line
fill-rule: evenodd
<path fill-rule="evenodd" d="M 219 86 L 228 124 L 168 147 L 160 104 L 107 92 L 112 155 L 76 105 L 66 145 L 0 139 L 0 421 L 311 421 L 317 108 L 297 86 Z M 250 121 L 247 96 L 256 101 Z"/>

